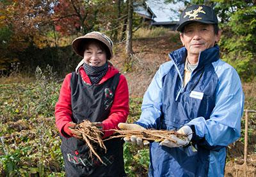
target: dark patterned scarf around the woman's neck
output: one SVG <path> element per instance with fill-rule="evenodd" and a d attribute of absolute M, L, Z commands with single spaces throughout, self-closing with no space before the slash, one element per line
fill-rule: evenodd
<path fill-rule="evenodd" d="M 92 84 L 97 84 L 108 71 L 108 63 L 103 66 L 90 66 L 83 64 L 85 73 L 89 76 Z"/>

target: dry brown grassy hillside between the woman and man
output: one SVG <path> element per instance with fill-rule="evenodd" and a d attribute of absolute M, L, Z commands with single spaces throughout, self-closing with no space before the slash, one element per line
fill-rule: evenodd
<path fill-rule="evenodd" d="M 124 73 L 125 44 L 116 46 L 115 56 L 111 62 L 125 74 L 129 83 L 129 92 L 132 97 L 143 96 L 148 84 L 156 73 L 158 67 L 170 60 L 168 53 L 180 48 L 181 42 L 177 32 L 168 32 L 156 38 L 140 38 L 132 41 L 134 57 L 132 72 Z"/>

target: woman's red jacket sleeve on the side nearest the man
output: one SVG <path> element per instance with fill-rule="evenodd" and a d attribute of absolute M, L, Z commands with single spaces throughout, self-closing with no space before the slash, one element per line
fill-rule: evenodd
<path fill-rule="evenodd" d="M 129 115 L 129 90 L 124 75 L 120 74 L 120 80 L 116 87 L 114 101 L 112 103 L 109 117 L 102 122 L 104 136 L 106 138 L 113 134 L 110 129 L 118 129 L 120 122 L 126 122 Z"/>

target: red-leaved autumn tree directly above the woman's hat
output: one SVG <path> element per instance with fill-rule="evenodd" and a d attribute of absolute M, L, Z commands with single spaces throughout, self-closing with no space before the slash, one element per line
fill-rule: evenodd
<path fill-rule="evenodd" d="M 108 30 L 113 1 L 60 0 L 54 6 L 54 24 L 62 34 Z"/>

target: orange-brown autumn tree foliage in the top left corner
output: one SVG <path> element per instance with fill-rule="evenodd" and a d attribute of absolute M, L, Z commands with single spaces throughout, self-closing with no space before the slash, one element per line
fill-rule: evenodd
<path fill-rule="evenodd" d="M 28 46 L 44 47 L 53 0 L 0 1 L 1 69 Z"/>

